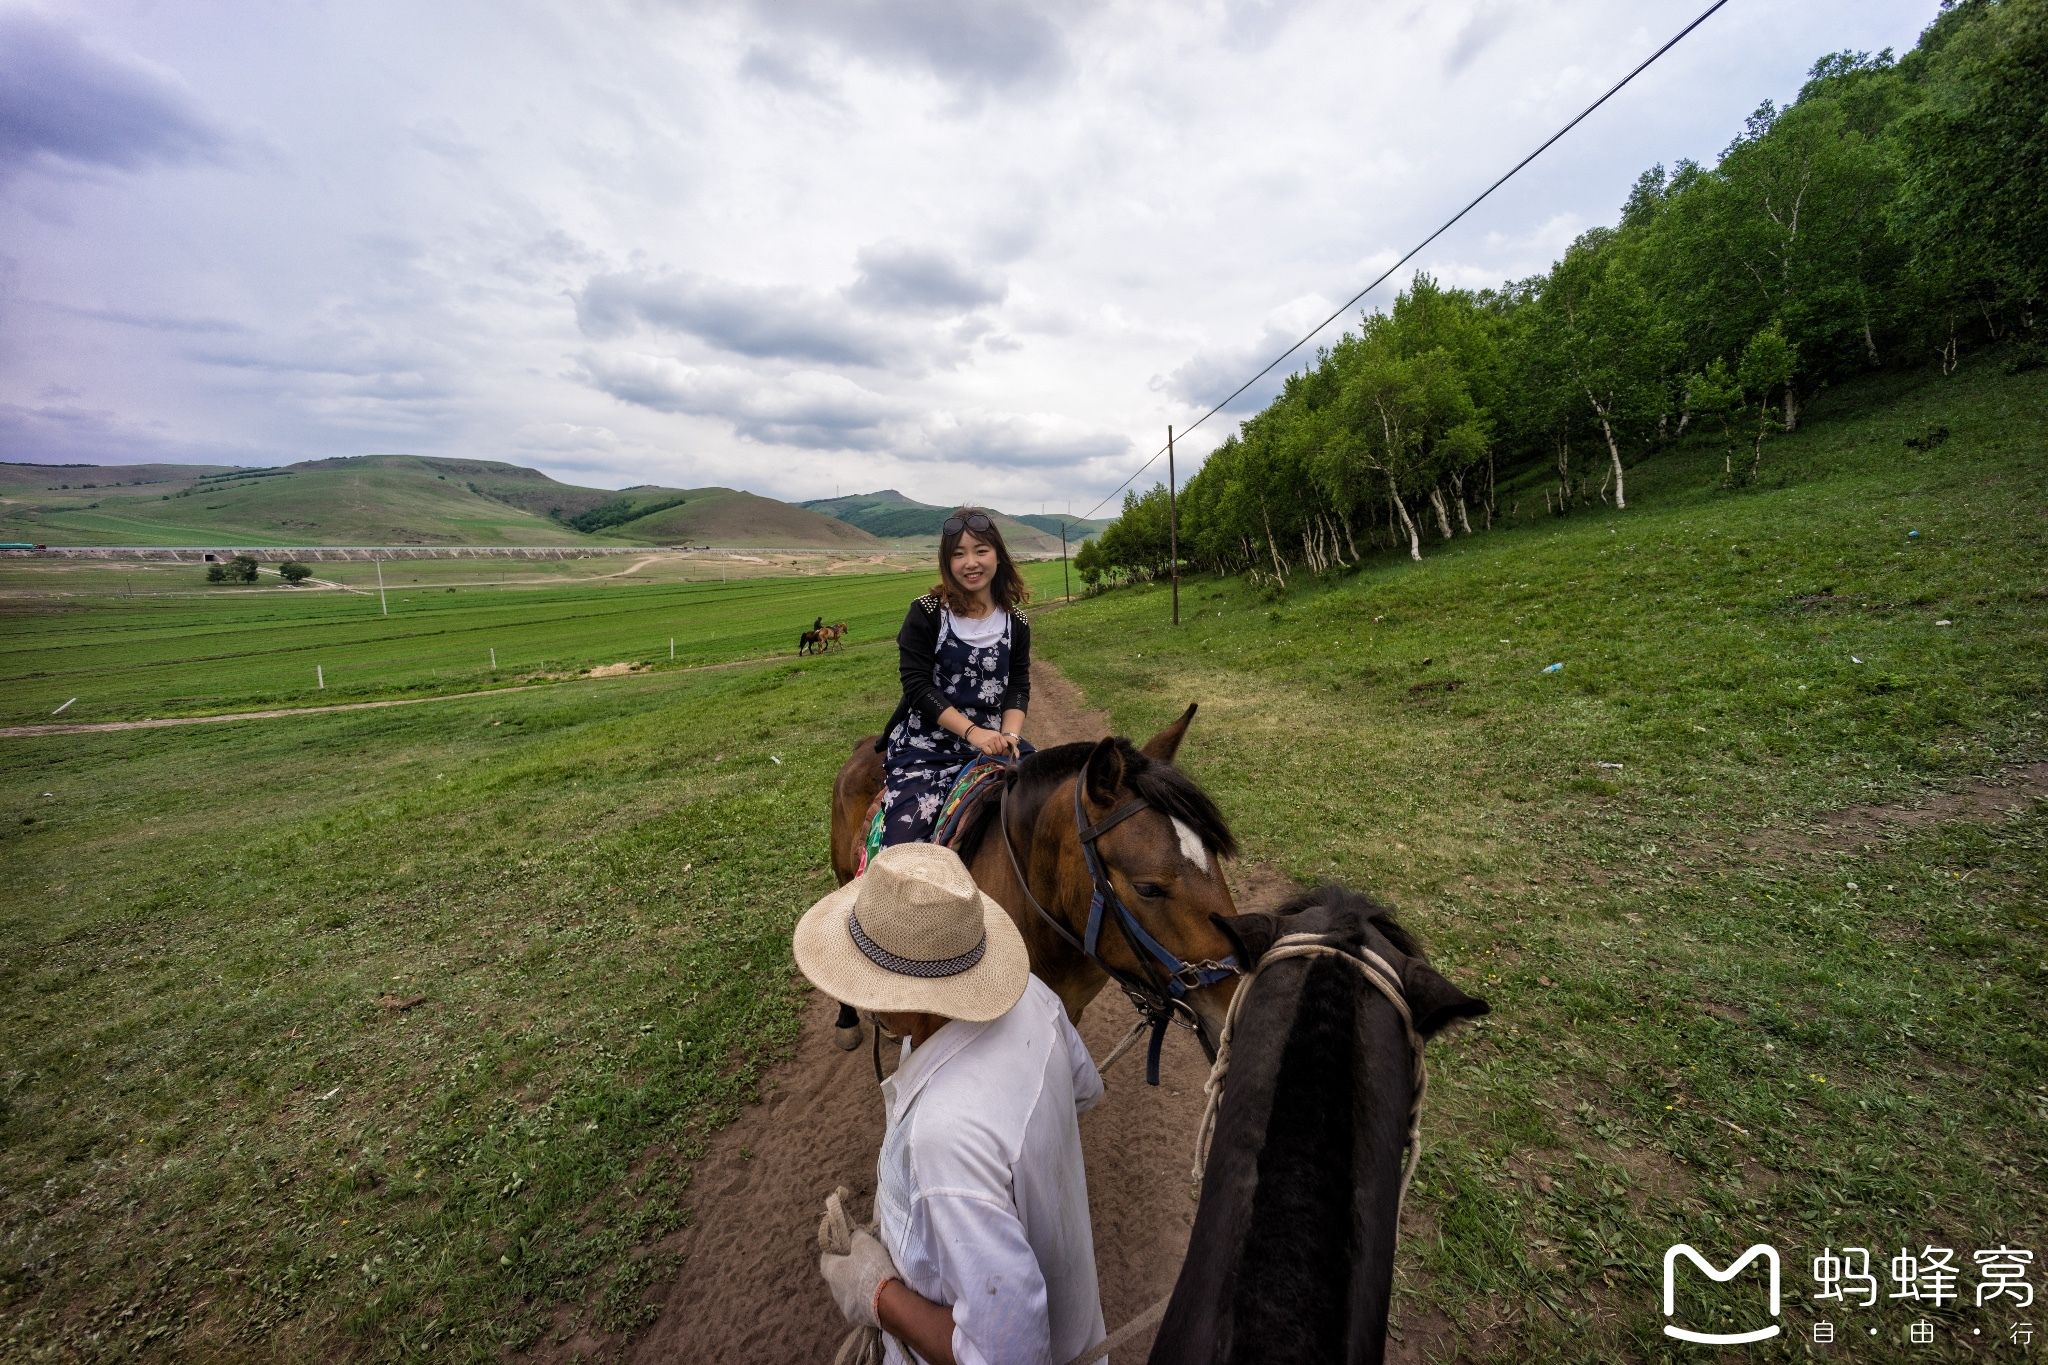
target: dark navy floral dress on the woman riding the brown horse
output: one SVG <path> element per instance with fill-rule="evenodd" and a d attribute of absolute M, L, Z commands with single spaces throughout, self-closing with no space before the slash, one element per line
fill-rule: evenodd
<path fill-rule="evenodd" d="M 1004 614 L 1004 632 L 987 645 L 969 645 L 952 632 L 950 614 L 940 616 L 932 686 L 969 720 L 999 731 L 1004 692 L 1010 690 L 1010 614 Z M 889 731 L 883 755 L 883 847 L 930 839 L 940 802 L 977 753 L 971 743 L 909 708 Z"/>

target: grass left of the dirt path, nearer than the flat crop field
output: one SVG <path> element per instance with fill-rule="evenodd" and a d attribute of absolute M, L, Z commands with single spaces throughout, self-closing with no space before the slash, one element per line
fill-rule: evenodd
<path fill-rule="evenodd" d="M 631 1320 L 791 1033 L 879 663 L 12 741 L 0 1357 L 487 1359 L 559 1302 Z"/>

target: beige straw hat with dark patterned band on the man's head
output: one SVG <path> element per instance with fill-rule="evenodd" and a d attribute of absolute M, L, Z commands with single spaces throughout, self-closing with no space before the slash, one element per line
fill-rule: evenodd
<path fill-rule="evenodd" d="M 983 1023 L 1024 995 L 1030 958 L 1010 913 L 958 853 L 899 843 L 797 921 L 797 968 L 858 1009 Z"/>

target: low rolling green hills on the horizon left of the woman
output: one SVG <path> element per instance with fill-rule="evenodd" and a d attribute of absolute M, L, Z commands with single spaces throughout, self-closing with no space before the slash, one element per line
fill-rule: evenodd
<path fill-rule="evenodd" d="M 416 454 L 281 469 L 0 465 L 0 540 L 885 548 L 846 522 L 735 489 L 586 489 L 520 465 Z"/>

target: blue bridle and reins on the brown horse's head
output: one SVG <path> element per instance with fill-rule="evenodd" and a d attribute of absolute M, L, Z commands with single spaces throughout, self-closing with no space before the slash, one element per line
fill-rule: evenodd
<path fill-rule="evenodd" d="M 1159 1085 L 1159 1048 L 1165 1042 L 1165 1029 L 1169 1023 L 1180 1023 L 1192 1029 L 1200 1040 L 1202 1029 L 1194 1007 L 1188 1005 L 1188 995 L 1200 990 L 1202 986 L 1214 986 L 1221 980 L 1239 976 L 1243 968 L 1237 966 L 1235 956 L 1221 960 L 1188 962 L 1157 937 L 1153 937 L 1139 917 L 1130 913 L 1122 896 L 1110 884 L 1110 876 L 1102 866 L 1102 855 L 1096 851 L 1096 839 L 1116 829 L 1128 821 L 1139 810 L 1149 810 L 1151 806 L 1143 798 L 1135 798 L 1102 817 L 1094 825 L 1087 821 L 1087 810 L 1081 806 L 1081 786 L 1083 778 L 1073 780 L 1073 827 L 1081 841 L 1081 860 L 1087 866 L 1087 880 L 1094 886 L 1094 894 L 1087 898 L 1087 925 L 1081 935 L 1059 923 L 1051 911 L 1047 911 L 1038 896 L 1032 894 L 1030 882 L 1024 878 L 1024 868 L 1018 864 L 1016 845 L 1010 841 L 1010 812 L 1008 796 L 1010 790 L 1004 788 L 1004 808 L 999 808 L 997 823 L 1004 833 L 1004 851 L 1010 853 L 1010 870 L 1016 874 L 1018 888 L 1030 902 L 1038 917 L 1053 927 L 1069 948 L 1079 952 L 1083 958 L 1102 968 L 1110 980 L 1114 980 L 1122 993 L 1130 999 L 1130 1005 L 1151 1023 L 1151 1042 L 1145 1048 L 1145 1085 Z M 1143 976 L 1130 974 L 1102 960 L 1102 931 L 1104 925 L 1114 923 L 1118 933 L 1122 933 L 1124 943 L 1130 948 L 1130 956 L 1139 960 Z M 1208 1042 L 1204 1050 L 1208 1050 Z"/>

